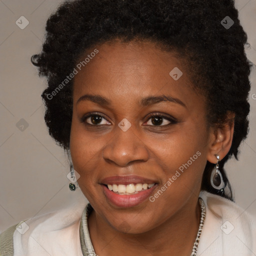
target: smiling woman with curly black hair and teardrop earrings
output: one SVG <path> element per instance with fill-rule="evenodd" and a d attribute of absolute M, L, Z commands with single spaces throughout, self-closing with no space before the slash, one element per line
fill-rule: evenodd
<path fill-rule="evenodd" d="M 8 228 L 1 255 L 255 255 L 223 169 L 248 130 L 233 1 L 74 0 L 46 31 L 45 121 L 89 203 Z"/>

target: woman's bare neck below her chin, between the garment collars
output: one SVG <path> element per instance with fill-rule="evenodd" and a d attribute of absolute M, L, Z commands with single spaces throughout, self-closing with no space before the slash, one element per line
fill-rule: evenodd
<path fill-rule="evenodd" d="M 94 210 L 88 216 L 90 239 L 99 256 L 190 255 L 199 222 L 200 206 L 197 198 L 159 226 L 139 234 L 117 231 Z"/>

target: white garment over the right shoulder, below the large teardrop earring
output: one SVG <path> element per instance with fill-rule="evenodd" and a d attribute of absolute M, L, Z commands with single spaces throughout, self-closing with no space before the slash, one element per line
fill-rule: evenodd
<path fill-rule="evenodd" d="M 198 252 L 202 255 L 255 255 L 255 216 L 221 196 L 201 191 L 200 197 L 205 203 L 206 216 Z"/>

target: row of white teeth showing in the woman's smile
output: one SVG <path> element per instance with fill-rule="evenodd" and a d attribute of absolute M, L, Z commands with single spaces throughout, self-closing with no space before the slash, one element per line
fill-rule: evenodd
<path fill-rule="evenodd" d="M 132 194 L 137 193 L 139 191 L 145 190 L 147 188 L 151 188 L 154 186 L 155 183 L 147 184 L 147 183 L 136 183 L 136 184 L 107 184 L 109 190 L 113 192 L 117 192 L 119 194 Z"/>

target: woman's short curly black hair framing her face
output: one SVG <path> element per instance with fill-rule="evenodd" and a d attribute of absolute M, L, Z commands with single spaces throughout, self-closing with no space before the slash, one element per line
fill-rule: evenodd
<path fill-rule="evenodd" d="M 228 16 L 228 17 L 227 17 Z M 227 27 L 224 24 L 233 24 Z M 229 25 L 230 26 L 230 25 Z M 72 118 L 72 81 L 56 87 L 70 74 L 91 47 L 121 39 L 149 40 L 176 52 L 187 66 L 194 87 L 207 100 L 209 125 L 222 125 L 227 113 L 235 114 L 232 145 L 219 162 L 228 190 L 221 196 L 233 200 L 223 165 L 237 159 L 240 142 L 247 136 L 252 63 L 246 58 L 247 35 L 233 0 L 72 0 L 63 2 L 46 23 L 39 54 L 31 57 L 39 75 L 47 77 L 41 94 L 49 134 L 69 148 Z M 49 97 L 55 90 L 54 97 Z M 214 164 L 207 162 L 201 189 L 218 194 L 210 185 Z"/>

